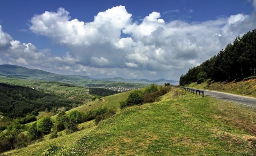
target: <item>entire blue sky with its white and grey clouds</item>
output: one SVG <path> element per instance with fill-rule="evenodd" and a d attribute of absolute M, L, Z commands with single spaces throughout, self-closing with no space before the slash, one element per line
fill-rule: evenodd
<path fill-rule="evenodd" d="M 179 80 L 256 28 L 256 0 L 0 0 L 0 64 Z"/>

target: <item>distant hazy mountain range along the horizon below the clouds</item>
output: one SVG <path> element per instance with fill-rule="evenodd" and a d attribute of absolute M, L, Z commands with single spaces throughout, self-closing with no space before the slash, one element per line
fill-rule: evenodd
<path fill-rule="evenodd" d="M 90 78 L 88 76 L 78 76 L 78 75 L 59 75 L 55 73 L 50 73 L 47 71 L 42 71 L 38 69 L 28 69 L 21 66 L 3 64 L 0 65 L 0 76 L 6 76 L 10 78 L 23 78 L 23 79 L 35 79 L 35 80 L 48 80 L 48 81 L 68 81 L 69 83 L 77 80 L 100 80 L 100 81 L 113 81 L 120 83 L 155 83 L 158 85 L 163 85 L 164 83 L 170 83 L 172 85 L 177 85 L 178 81 L 175 80 L 147 80 L 147 79 L 125 79 L 121 77 L 115 78 Z"/>

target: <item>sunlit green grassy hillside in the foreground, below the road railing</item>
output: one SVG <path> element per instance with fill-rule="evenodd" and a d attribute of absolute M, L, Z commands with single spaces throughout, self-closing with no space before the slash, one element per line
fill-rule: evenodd
<path fill-rule="evenodd" d="M 123 94 L 106 97 L 116 103 Z M 161 101 L 132 106 L 82 131 L 4 154 L 230 155 L 256 154 L 256 108 L 173 89 Z M 113 100 L 113 101 L 112 101 Z M 99 101 L 95 101 L 99 102 Z M 48 149 L 48 150 L 46 150 Z"/>

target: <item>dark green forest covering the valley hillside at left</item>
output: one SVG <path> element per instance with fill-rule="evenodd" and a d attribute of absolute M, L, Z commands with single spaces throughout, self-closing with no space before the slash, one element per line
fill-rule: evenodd
<path fill-rule="evenodd" d="M 46 109 L 54 111 L 60 107 L 69 110 L 73 103 L 81 104 L 81 101 L 46 94 L 28 87 L 0 83 L 0 112 L 3 116 L 26 117 L 37 115 L 37 112 Z"/>

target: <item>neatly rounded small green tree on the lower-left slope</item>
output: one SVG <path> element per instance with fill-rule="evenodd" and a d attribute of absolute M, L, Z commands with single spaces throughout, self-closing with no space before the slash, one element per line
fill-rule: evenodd
<path fill-rule="evenodd" d="M 51 133 L 52 127 L 53 127 L 53 122 L 51 120 L 51 117 L 49 116 L 43 117 L 42 119 L 39 119 L 37 122 L 38 130 L 45 135 Z"/>

